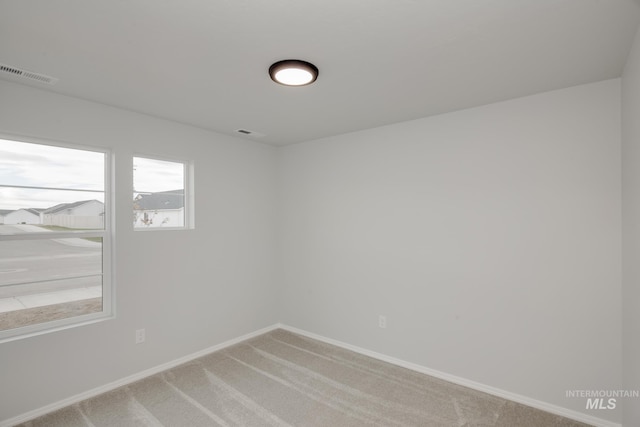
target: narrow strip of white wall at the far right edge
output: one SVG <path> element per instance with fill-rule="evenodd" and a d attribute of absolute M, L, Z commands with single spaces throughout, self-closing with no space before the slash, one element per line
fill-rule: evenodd
<path fill-rule="evenodd" d="M 640 33 L 622 77 L 622 300 L 624 387 L 640 390 Z M 624 425 L 640 425 L 640 401 L 624 407 Z"/>

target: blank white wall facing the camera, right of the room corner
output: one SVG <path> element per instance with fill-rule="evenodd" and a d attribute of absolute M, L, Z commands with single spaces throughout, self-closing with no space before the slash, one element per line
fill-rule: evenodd
<path fill-rule="evenodd" d="M 280 160 L 283 322 L 620 420 L 565 397 L 621 386 L 619 79 Z"/>

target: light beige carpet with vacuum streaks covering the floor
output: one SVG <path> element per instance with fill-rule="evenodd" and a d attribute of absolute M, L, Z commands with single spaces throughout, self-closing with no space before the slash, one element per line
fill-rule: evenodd
<path fill-rule="evenodd" d="M 275 330 L 22 426 L 585 424 Z"/>

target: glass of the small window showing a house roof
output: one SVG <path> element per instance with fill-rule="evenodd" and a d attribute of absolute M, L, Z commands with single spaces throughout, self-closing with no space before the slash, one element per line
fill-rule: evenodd
<path fill-rule="evenodd" d="M 133 226 L 185 228 L 184 163 L 133 158 Z"/>

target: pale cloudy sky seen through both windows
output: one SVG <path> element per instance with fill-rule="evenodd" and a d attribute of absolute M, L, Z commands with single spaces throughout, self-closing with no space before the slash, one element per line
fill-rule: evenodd
<path fill-rule="evenodd" d="M 0 210 L 104 202 L 104 163 L 103 152 L 0 139 Z M 184 188 L 183 173 L 181 163 L 134 158 L 137 192 Z"/>

